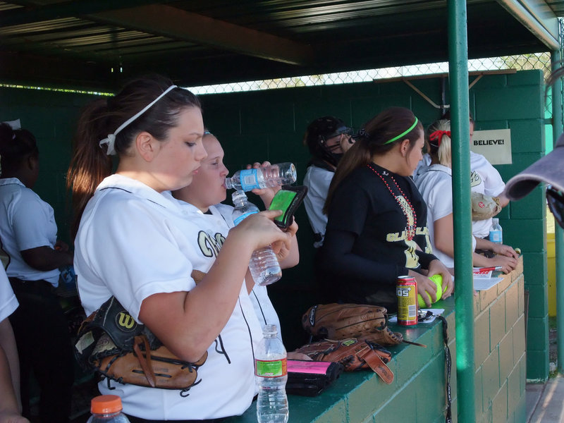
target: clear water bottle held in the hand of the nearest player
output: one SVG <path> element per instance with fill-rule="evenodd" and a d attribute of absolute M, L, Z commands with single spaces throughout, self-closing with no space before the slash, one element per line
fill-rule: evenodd
<path fill-rule="evenodd" d="M 258 213 L 259 208 L 247 200 L 247 195 L 243 191 L 235 191 L 231 195 L 233 200 L 233 223 L 237 225 L 253 213 Z M 270 285 L 282 277 L 282 269 L 278 264 L 278 257 L 274 254 L 270 245 L 259 248 L 252 253 L 249 262 L 249 270 L 255 283 L 260 286 Z"/>

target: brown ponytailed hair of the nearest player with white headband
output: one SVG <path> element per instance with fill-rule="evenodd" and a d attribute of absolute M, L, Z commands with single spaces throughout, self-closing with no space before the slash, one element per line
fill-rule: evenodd
<path fill-rule="evenodd" d="M 139 78 L 125 85 L 115 97 L 94 100 L 82 110 L 67 172 L 67 188 L 73 192 L 73 237 L 94 190 L 106 176 L 111 175 L 111 157 L 106 154 L 105 147 L 99 146 L 100 140 L 114 133 L 171 85 L 171 80 L 159 75 Z M 165 140 L 168 130 L 178 124 L 178 116 L 188 107 L 201 109 L 200 100 L 192 92 L 178 87 L 168 92 L 116 135 L 114 148 L 118 156 L 128 152 L 135 136 L 142 131 L 147 131 L 157 140 Z"/>

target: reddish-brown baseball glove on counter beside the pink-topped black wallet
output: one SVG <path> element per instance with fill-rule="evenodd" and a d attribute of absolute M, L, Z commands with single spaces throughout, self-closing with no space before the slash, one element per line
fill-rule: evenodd
<path fill-rule="evenodd" d="M 386 366 L 391 360 L 391 353 L 368 338 L 349 338 L 341 341 L 325 339 L 303 345 L 294 352 L 305 354 L 314 361 L 343 364 L 345 372 L 372 369 L 386 384 L 393 381 L 393 373 Z"/>

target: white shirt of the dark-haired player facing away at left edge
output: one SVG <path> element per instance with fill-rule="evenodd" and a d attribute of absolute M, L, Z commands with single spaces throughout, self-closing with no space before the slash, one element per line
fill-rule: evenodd
<path fill-rule="evenodd" d="M 0 179 L 0 240 L 8 255 L 6 274 L 23 281 L 59 285 L 59 269 L 41 271 L 27 264 L 20 251 L 55 246 L 57 225 L 53 207 L 26 188 L 18 178 Z"/>

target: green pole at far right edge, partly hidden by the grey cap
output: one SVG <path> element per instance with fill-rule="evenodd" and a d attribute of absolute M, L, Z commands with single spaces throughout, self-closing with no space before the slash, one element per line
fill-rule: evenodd
<path fill-rule="evenodd" d="M 561 66 L 560 51 L 552 52 L 553 69 Z M 562 81 L 558 79 L 552 86 L 552 139 L 553 144 L 562 133 Z M 554 247 L 556 262 L 556 328 L 558 342 L 558 372 L 564 374 L 564 231 L 558 224 L 554 228 Z"/>

